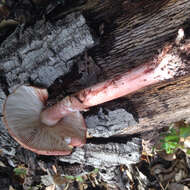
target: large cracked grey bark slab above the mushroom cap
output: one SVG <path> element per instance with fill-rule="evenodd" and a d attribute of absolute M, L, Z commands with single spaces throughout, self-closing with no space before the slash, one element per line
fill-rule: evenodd
<path fill-rule="evenodd" d="M 18 26 L 0 46 L 0 70 L 9 87 L 31 82 L 49 87 L 67 74 L 73 57 L 94 45 L 80 13 L 56 23 L 37 21 L 26 29 Z"/>

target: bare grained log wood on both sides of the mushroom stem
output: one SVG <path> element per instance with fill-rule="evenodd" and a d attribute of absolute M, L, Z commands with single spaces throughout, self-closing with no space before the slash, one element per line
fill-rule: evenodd
<path fill-rule="evenodd" d="M 184 28 L 188 37 L 189 13 L 188 0 L 123 0 L 115 4 L 110 1 L 104 3 L 104 7 L 99 3 L 94 9 L 86 11 L 88 16 L 95 15 L 88 17 L 91 22 L 96 20 L 96 23 L 104 23 L 100 45 L 90 51 L 102 69 L 100 80 L 153 59 L 166 43 L 174 41 L 179 28 Z M 188 65 L 188 56 L 185 62 Z M 189 68 L 187 70 L 186 76 L 182 78 L 127 96 L 127 103 L 126 100 L 113 103 L 113 107 L 123 105 L 138 119 L 139 123 L 127 128 L 126 134 L 153 130 L 189 118 Z M 108 107 L 112 107 L 108 104 Z"/>

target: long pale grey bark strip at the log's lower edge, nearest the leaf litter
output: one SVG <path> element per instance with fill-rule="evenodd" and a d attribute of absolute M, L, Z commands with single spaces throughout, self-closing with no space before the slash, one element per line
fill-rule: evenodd
<path fill-rule="evenodd" d="M 141 140 L 133 138 L 124 143 L 86 144 L 77 147 L 69 156 L 60 157 L 60 161 L 91 165 L 97 168 L 135 164 L 140 161 Z"/>

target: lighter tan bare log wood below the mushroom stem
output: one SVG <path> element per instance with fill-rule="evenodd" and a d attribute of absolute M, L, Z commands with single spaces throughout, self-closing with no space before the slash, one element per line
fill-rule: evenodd
<path fill-rule="evenodd" d="M 123 134 L 138 134 L 189 120 L 190 76 L 158 84 L 103 105 L 106 109 L 125 108 L 137 124 L 127 125 Z"/>

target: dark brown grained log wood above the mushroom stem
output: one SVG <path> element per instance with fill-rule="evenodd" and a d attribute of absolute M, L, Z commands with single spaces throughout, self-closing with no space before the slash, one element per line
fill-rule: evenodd
<path fill-rule="evenodd" d="M 100 45 L 91 52 L 103 80 L 150 60 L 179 28 L 188 26 L 188 0 L 109 2 L 86 13 L 91 25 L 104 24 Z"/>

